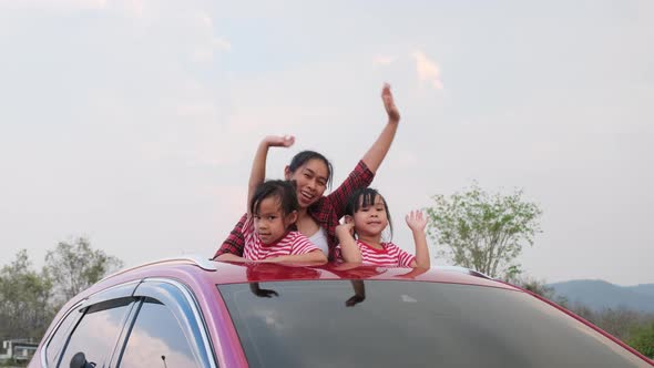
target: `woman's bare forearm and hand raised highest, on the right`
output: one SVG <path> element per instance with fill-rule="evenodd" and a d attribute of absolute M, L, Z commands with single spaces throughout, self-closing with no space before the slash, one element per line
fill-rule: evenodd
<path fill-rule="evenodd" d="M 388 123 L 381 131 L 381 134 L 379 134 L 379 137 L 377 137 L 377 141 L 375 141 L 372 146 L 364 155 L 364 159 L 361 159 L 372 173 L 377 173 L 379 165 L 381 165 L 384 157 L 386 157 L 398 129 L 398 123 L 400 122 L 400 113 L 395 105 L 388 83 L 384 84 L 384 89 L 381 90 L 381 101 L 388 114 Z"/>

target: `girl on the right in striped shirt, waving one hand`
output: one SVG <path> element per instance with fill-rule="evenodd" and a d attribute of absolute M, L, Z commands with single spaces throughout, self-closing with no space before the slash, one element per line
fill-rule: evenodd
<path fill-rule="evenodd" d="M 382 242 L 381 233 L 392 225 L 386 200 L 371 188 L 352 193 L 346 206 L 345 223 L 336 227 L 340 244 L 337 254 L 345 262 L 377 266 L 429 268 L 429 249 L 425 227 L 427 218 L 420 211 L 407 215 L 407 225 L 413 233 L 416 255 L 402 251 L 391 242 Z"/>

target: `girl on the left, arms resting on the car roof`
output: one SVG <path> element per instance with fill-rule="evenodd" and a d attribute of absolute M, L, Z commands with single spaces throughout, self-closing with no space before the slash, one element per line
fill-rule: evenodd
<path fill-rule="evenodd" d="M 267 181 L 248 192 L 247 219 L 243 228 L 243 257 L 228 254 L 217 260 L 325 263 L 327 257 L 299 232 L 289 231 L 297 221 L 297 197 L 285 181 Z"/>

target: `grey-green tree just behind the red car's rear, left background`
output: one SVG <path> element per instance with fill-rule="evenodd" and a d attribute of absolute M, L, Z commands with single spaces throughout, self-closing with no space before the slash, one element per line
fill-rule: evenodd
<path fill-rule="evenodd" d="M 92 249 L 89 239 L 79 237 L 72 244 L 60 242 L 54 251 L 48 251 L 45 265 L 60 297 L 68 300 L 123 263 L 103 251 Z"/>

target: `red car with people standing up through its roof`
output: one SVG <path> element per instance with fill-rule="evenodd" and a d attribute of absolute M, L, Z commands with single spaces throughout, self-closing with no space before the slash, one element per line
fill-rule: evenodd
<path fill-rule="evenodd" d="M 184 256 L 72 298 L 29 367 L 652 367 L 571 311 L 461 267 Z"/>

